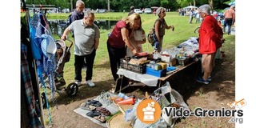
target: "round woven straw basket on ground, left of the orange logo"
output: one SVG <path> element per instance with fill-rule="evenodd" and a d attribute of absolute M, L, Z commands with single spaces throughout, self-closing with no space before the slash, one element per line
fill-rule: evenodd
<path fill-rule="evenodd" d="M 106 122 L 106 126 L 108 128 L 132 128 L 132 126 L 130 126 L 130 121 L 124 121 L 124 116 L 125 115 L 122 113 L 115 114 L 108 122 Z"/>

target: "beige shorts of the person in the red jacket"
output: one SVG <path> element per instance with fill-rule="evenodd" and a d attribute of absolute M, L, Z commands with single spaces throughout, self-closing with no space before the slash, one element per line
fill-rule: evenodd
<path fill-rule="evenodd" d="M 215 66 L 214 57 L 215 54 L 202 54 L 202 69 L 206 73 L 210 74 L 212 72 Z"/>

